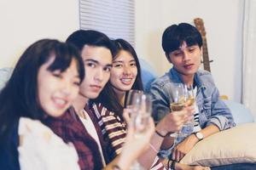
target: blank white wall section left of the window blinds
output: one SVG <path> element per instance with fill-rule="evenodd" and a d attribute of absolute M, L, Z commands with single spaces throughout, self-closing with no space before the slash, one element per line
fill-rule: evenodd
<path fill-rule="evenodd" d="M 65 41 L 79 29 L 79 1 L 1 0 L 0 21 L 0 68 L 14 66 L 32 42 Z"/>

